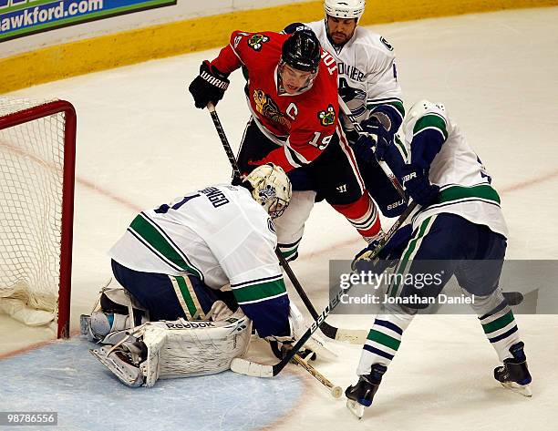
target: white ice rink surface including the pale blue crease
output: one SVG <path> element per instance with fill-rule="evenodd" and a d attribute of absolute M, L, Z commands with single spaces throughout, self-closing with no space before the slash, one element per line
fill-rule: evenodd
<path fill-rule="evenodd" d="M 491 172 L 511 232 L 509 259 L 558 259 L 556 22 L 558 7 L 373 27 L 396 48 L 406 108 L 421 98 L 443 102 Z M 202 59 L 216 54 L 150 61 L 12 94 L 65 98 L 78 111 L 74 331 L 110 276 L 106 252 L 136 212 L 229 179 L 210 116 L 193 108 L 186 91 Z M 239 72 L 218 112 L 237 147 L 248 119 Z M 334 210 L 315 206 L 292 266 L 316 308 L 327 303 L 328 261 L 351 259 L 363 246 Z M 419 316 L 360 423 L 344 401 L 333 400 L 294 365 L 273 381 L 229 372 L 131 390 L 79 339 L 2 360 L 0 411 L 57 409 L 57 429 L 77 430 L 552 429 L 558 422 L 558 317 L 516 318 L 533 375 L 532 399 L 494 381 L 497 357 L 476 316 Z M 362 329 L 372 322 L 372 316 L 331 319 Z M 0 354 L 47 335 L 5 317 L 0 328 Z M 333 348 L 338 359 L 315 366 L 346 387 L 355 381 L 360 347 Z"/>

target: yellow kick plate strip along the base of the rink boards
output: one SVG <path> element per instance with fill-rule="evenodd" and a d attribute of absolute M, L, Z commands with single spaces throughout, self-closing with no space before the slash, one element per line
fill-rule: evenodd
<path fill-rule="evenodd" d="M 558 5 L 558 0 L 368 0 L 362 25 L 501 9 Z M 233 30 L 280 30 L 324 16 L 323 2 L 306 2 L 144 27 L 0 58 L 0 93 L 153 58 L 228 43 Z"/>

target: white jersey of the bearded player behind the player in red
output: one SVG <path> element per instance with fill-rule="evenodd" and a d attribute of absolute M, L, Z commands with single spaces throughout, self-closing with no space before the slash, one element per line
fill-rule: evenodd
<path fill-rule="evenodd" d="M 405 114 L 398 84 L 393 47 L 387 40 L 362 26 L 343 46 L 335 46 L 327 37 L 325 20 L 305 24 L 318 37 L 337 62 L 339 94 L 360 123 L 379 105 L 393 108 L 403 120 Z M 353 127 L 346 122 L 347 130 Z"/>

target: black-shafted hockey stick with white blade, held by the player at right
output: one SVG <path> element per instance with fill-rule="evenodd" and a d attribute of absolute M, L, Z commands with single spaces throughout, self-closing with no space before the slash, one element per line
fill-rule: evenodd
<path fill-rule="evenodd" d="M 374 249 L 373 256 L 377 255 L 377 253 L 382 249 L 382 247 L 387 243 L 387 241 L 389 241 L 389 239 L 394 235 L 394 233 L 398 231 L 401 224 L 403 224 L 407 220 L 408 215 L 413 210 L 415 210 L 416 207 L 417 207 L 416 202 L 409 203 L 408 208 L 403 212 L 403 214 L 399 216 L 398 220 L 395 223 L 393 223 L 393 226 L 389 228 L 389 231 L 387 231 L 386 236 L 384 237 L 385 241 L 381 241 L 381 243 L 377 246 L 377 248 Z M 318 327 L 320 327 L 320 325 L 325 321 L 327 315 L 331 313 L 334 308 L 336 308 L 338 303 L 341 302 L 341 296 L 346 294 L 346 292 L 348 292 L 351 289 L 351 287 L 352 285 L 349 285 L 348 288 L 341 289 L 339 292 L 337 292 L 336 296 L 327 304 L 325 310 L 320 315 L 318 315 L 315 321 L 312 322 L 310 327 L 306 330 L 305 334 L 303 334 L 298 339 L 298 341 L 294 344 L 293 348 L 289 350 L 284 355 L 284 358 L 281 361 L 279 361 L 277 364 L 265 365 L 244 358 L 234 358 L 233 362 L 231 363 L 231 370 L 234 373 L 238 373 L 241 375 L 252 375 L 253 377 L 274 377 L 275 375 L 281 373 L 281 371 L 284 369 L 286 364 L 288 364 L 293 359 L 294 355 L 303 348 L 306 341 L 308 341 L 308 338 L 310 338 L 310 336 L 314 334 L 315 331 L 317 331 Z M 364 334 L 364 338 L 362 339 L 362 341 L 359 342 L 359 344 L 364 343 L 364 340 L 366 340 L 368 334 L 367 331 L 362 331 L 362 330 L 351 331 L 351 333 Z"/>

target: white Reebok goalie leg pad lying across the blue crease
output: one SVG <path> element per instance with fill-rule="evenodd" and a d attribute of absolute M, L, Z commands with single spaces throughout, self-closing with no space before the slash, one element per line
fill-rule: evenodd
<path fill-rule="evenodd" d="M 131 387 L 153 386 L 159 378 L 212 375 L 228 370 L 248 349 L 252 322 L 237 310 L 215 307 L 216 321 L 149 322 L 126 341 L 90 351 Z"/>

